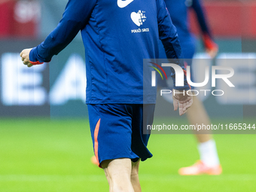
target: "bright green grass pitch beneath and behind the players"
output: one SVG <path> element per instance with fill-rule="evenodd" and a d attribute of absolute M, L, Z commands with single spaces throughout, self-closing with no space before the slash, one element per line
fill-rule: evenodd
<path fill-rule="evenodd" d="M 256 130 L 255 130 L 256 131 Z M 141 163 L 142 191 L 255 191 L 256 135 L 215 135 L 222 175 L 181 176 L 199 156 L 193 135 L 152 135 L 154 157 Z M 87 120 L 0 120 L 1 192 L 108 191 L 90 163 Z"/>

